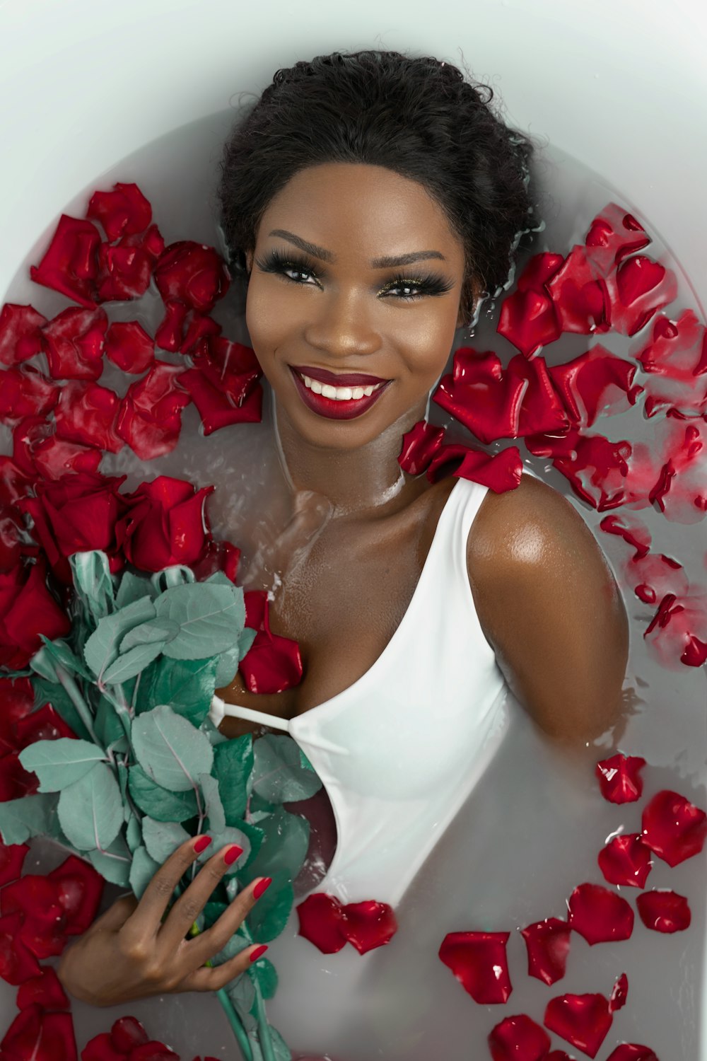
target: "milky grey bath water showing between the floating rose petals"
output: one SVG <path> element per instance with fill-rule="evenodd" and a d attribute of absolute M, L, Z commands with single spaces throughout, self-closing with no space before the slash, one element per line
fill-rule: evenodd
<path fill-rule="evenodd" d="M 223 110 L 145 144 L 87 181 L 66 203 L 64 212 L 83 216 L 88 195 L 95 188 L 108 189 L 116 180 L 135 180 L 153 203 L 154 220 L 166 243 L 193 239 L 218 246 L 213 186 L 220 146 L 232 121 L 233 111 Z M 595 214 L 606 203 L 616 202 L 644 224 L 653 238 L 648 253 L 669 264 L 678 277 L 677 298 L 666 312 L 675 318 L 682 310 L 692 308 L 704 320 L 697 295 L 670 250 L 670 232 L 656 232 L 651 219 L 643 216 L 640 201 L 634 202 L 603 175 L 588 170 L 554 144 L 543 151 L 537 166 L 543 189 L 541 214 L 546 228 L 537 234 L 532 250 L 524 251 L 517 272 L 530 253 L 550 249 L 566 254 L 573 243 L 583 241 Z M 631 189 L 626 191 L 630 195 Z M 24 248 L 26 254 L 3 301 L 31 301 L 47 316 L 66 307 L 63 296 L 39 289 L 29 279 L 29 265 L 39 260 L 54 224 L 47 227 L 34 246 Z M 471 342 L 478 350 L 493 349 L 503 361 L 516 352 L 496 333 L 499 301 L 484 307 L 473 341 L 459 333 L 455 349 Z M 161 311 L 156 293 L 141 300 L 138 313 L 130 303 L 109 307 L 111 319 L 137 317 L 153 332 Z M 242 311 L 236 298 L 227 298 L 217 306 L 214 316 L 223 324 L 224 334 L 248 343 Z M 644 334 L 641 332 L 641 336 Z M 624 355 L 635 349 L 636 337 L 628 340 L 609 333 L 602 336 L 602 343 L 614 353 Z M 548 363 L 559 364 L 585 349 L 586 336 L 564 334 L 543 354 Z M 170 355 L 164 354 L 164 360 Z M 102 384 L 119 394 L 129 382 L 113 366 L 108 366 L 101 379 Z M 444 425 L 452 422 L 434 403 L 430 419 Z M 226 428 L 208 438 L 199 431 L 193 405 L 185 410 L 182 423 L 180 443 L 173 453 L 141 462 L 125 447 L 119 454 L 107 455 L 101 471 L 126 473 L 125 490 L 156 474 L 189 479 L 199 486 L 216 483 L 208 505 L 213 532 L 242 547 L 243 585 L 249 588 L 249 562 L 278 527 L 279 514 L 272 499 L 283 472 L 271 441 L 269 402 L 265 403 L 261 424 Z M 639 403 L 603 418 L 599 429 L 612 439 L 630 438 L 650 446 L 656 420 L 646 419 Z M 4 427 L 0 428 L 0 443 L 1 452 L 10 451 L 10 433 Z M 551 465 L 520 449 L 528 466 L 581 512 L 600 541 L 619 585 L 624 586 L 623 568 L 631 551 L 619 538 L 599 529 L 604 514 L 578 499 Z M 242 521 L 244 514 L 253 509 L 262 512 L 262 518 L 249 538 L 245 526 L 242 529 Z M 685 516 L 683 522 L 670 521 L 651 507 L 636 515 L 652 533 L 653 549 L 678 558 L 690 581 L 704 586 L 704 523 L 696 519 L 690 522 Z M 307 541 L 302 540 L 299 546 L 306 549 Z M 631 655 L 624 682 L 626 725 L 619 746 L 626 754 L 648 760 L 647 797 L 660 788 L 671 788 L 704 806 L 704 668 L 679 663 L 669 666 L 660 661 L 642 637 L 654 609 L 641 604 L 631 591 L 623 595 L 631 622 Z M 586 756 L 568 760 L 540 740 L 519 711 L 513 712 L 509 734 L 482 784 L 403 900 L 399 910 L 401 930 L 394 946 L 369 955 L 371 960 L 364 964 L 358 955 L 349 951 L 329 958 L 314 947 L 303 951 L 303 944 L 293 945 L 289 928 L 271 945 L 282 986 L 268 1011 L 293 1048 L 331 1054 L 341 1061 L 364 1061 L 374 1056 L 418 1061 L 428 1058 L 444 1042 L 449 1058 L 470 1056 L 470 1050 L 472 1056 L 477 1051 L 482 1056 L 485 1036 L 508 1013 L 528 1012 L 542 1020 L 544 1006 L 552 995 L 566 991 L 607 994 L 616 977 L 625 972 L 630 1003 L 615 1014 L 599 1055 L 601 1061 L 611 1053 L 609 1044 L 624 1040 L 649 1044 L 662 1061 L 697 1057 L 701 1047 L 705 1048 L 701 1017 L 704 853 L 675 869 L 656 859 L 649 879 L 649 888 L 673 888 L 689 897 L 693 921 L 688 932 L 662 936 L 643 929 L 637 919 L 628 942 L 589 947 L 579 937 L 577 942 L 573 939 L 568 974 L 553 989 L 525 975 L 524 946 L 515 927 L 545 917 L 562 918 L 565 900 L 577 884 L 601 883 L 596 854 L 606 838 L 619 829 L 639 829 L 636 805 L 619 807 L 603 801 L 591 775 L 591 763 L 608 754 L 611 746 L 607 734 L 587 749 Z M 42 866 L 60 860 L 55 851 L 41 843 L 35 846 L 33 857 Z M 33 863 L 28 859 L 25 871 L 32 870 Z M 632 900 L 632 895 L 626 898 Z M 441 932 L 440 926 L 444 926 Z M 514 992 L 507 1006 L 477 1006 L 438 960 L 437 950 L 444 933 L 463 928 L 511 932 Z M 422 953 L 428 956 L 426 963 L 419 959 Z M 14 1014 L 14 991 L 4 984 L 0 987 L 5 1027 L 10 1014 Z M 344 1007 L 340 1005 L 342 993 L 347 997 Z M 229 1050 L 233 1047 L 226 1045 L 231 1041 L 230 1032 L 213 997 L 165 997 L 99 1011 L 74 1004 L 73 1010 L 79 1046 L 91 1034 L 105 1030 L 112 1019 L 129 1011 L 143 1020 L 151 1036 L 170 1042 L 182 1057 L 196 1053 L 232 1056 Z M 563 1044 L 558 1040 L 554 1045 Z"/>

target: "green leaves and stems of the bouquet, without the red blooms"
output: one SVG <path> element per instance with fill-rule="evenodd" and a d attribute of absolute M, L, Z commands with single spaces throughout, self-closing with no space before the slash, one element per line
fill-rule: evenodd
<path fill-rule="evenodd" d="M 98 550 L 73 554 L 69 566 L 71 629 L 42 637 L 30 678 L 72 735 L 34 741 L 19 753 L 38 790 L 0 804 L 3 841 L 51 836 L 140 898 L 170 854 L 208 830 L 214 847 L 234 843 L 242 854 L 193 933 L 267 876 L 267 892 L 214 963 L 273 939 L 308 843 L 306 820 L 283 803 L 308 798 L 320 781 L 289 737 L 226 740 L 209 719 L 214 690 L 233 678 L 255 638 L 243 590 L 223 572 L 197 581 L 184 566 L 111 575 Z M 218 992 L 249 1061 L 289 1057 L 265 1016 L 276 986 L 261 957 Z"/>

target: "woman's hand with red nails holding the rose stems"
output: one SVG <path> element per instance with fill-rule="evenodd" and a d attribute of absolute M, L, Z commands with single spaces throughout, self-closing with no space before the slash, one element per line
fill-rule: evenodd
<path fill-rule="evenodd" d="M 162 921 L 175 888 L 205 849 L 206 839 L 182 843 L 155 873 L 140 902 L 132 895 L 119 899 L 64 952 L 57 972 L 67 991 L 93 1006 L 165 992 L 218 991 L 260 957 L 266 947 L 252 944 L 223 966 L 205 968 L 263 893 L 267 877 L 249 884 L 206 932 L 184 938 L 241 853 L 235 845 L 206 863 Z"/>

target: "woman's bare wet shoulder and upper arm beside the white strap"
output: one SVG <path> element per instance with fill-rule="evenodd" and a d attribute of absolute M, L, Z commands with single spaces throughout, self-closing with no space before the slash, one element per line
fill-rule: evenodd
<path fill-rule="evenodd" d="M 550 736 L 586 742 L 620 718 L 629 624 L 591 530 L 524 475 L 484 498 L 467 544 L 479 622 L 512 692 Z"/>

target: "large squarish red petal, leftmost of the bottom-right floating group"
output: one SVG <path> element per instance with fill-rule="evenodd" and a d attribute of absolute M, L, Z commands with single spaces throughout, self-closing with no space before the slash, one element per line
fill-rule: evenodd
<path fill-rule="evenodd" d="M 513 990 L 508 972 L 508 932 L 450 932 L 442 940 L 440 959 L 475 1002 L 505 1003 Z"/>

